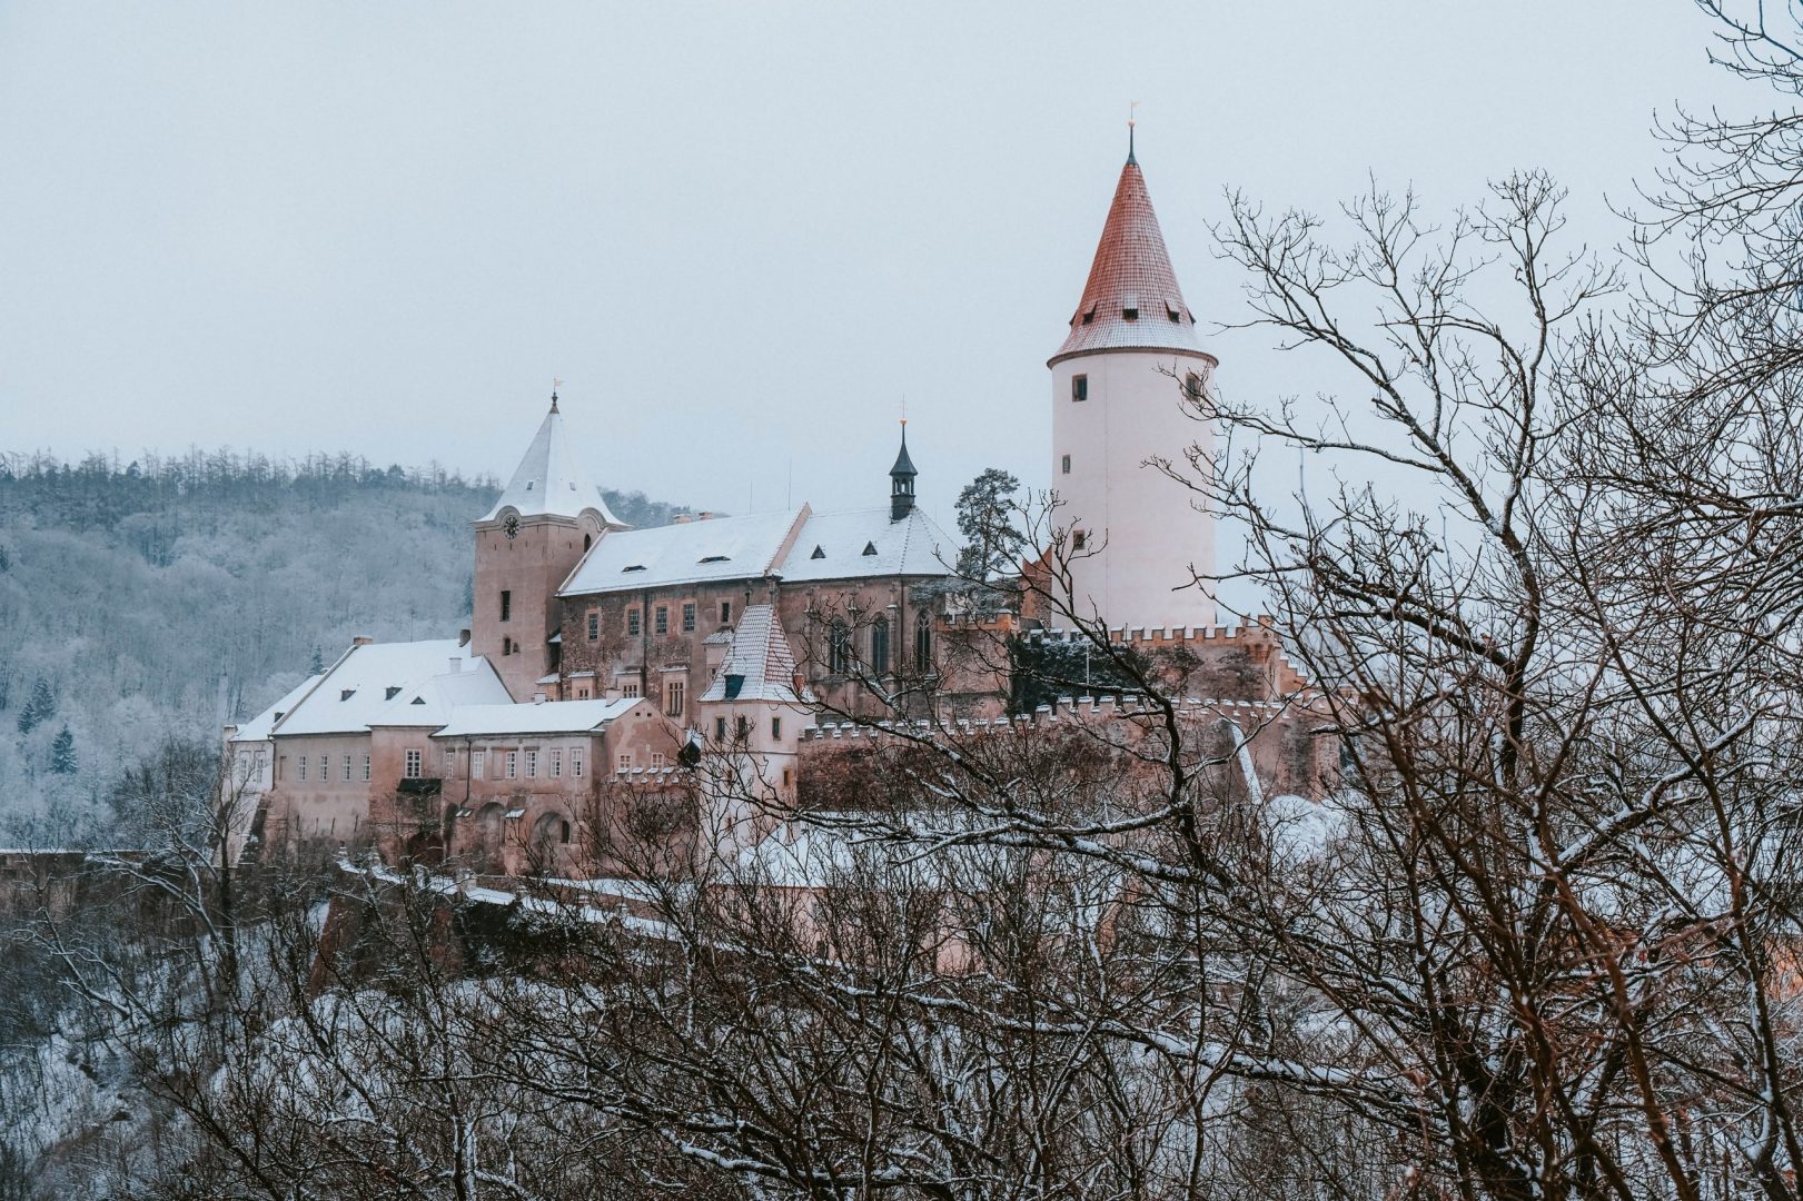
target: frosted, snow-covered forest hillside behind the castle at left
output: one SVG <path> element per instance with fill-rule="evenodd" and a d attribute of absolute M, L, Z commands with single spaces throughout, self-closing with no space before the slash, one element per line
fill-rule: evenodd
<path fill-rule="evenodd" d="M 454 637 L 496 494 L 348 453 L 0 453 L 0 844 L 105 842 L 123 774 L 211 743 L 353 635 Z"/>

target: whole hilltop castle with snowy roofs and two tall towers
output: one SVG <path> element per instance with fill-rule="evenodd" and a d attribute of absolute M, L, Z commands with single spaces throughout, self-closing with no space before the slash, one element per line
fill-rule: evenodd
<path fill-rule="evenodd" d="M 1244 729 L 1249 786 L 1264 775 L 1309 792 L 1323 739 L 1295 707 L 1305 682 L 1268 628 L 1215 628 L 1194 582 L 1213 566 L 1212 518 L 1152 465 L 1208 449 L 1197 417 L 1215 366 L 1129 150 L 1048 362 L 1060 554 L 1022 564 L 1037 591 L 984 613 L 947 586 L 957 545 L 914 503 L 905 424 L 887 503 L 635 530 L 608 510 L 554 393 L 474 521 L 469 629 L 357 638 L 227 727 L 229 853 L 364 844 L 508 875 L 572 867 L 597 826 L 664 813 L 692 828 L 683 806 L 739 828 L 746 815 L 721 813 L 730 801 L 696 779 L 842 806 L 833 765 L 894 723 L 977 738 L 1130 709 L 1130 696 L 1103 694 L 1010 712 L 1010 664 L 977 642 L 1075 646 L 1075 624 L 1147 651 L 1194 721 Z"/>

